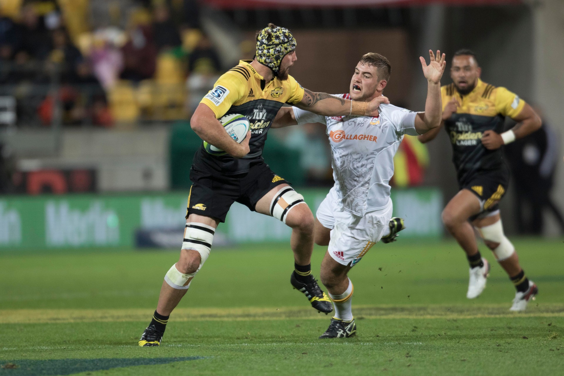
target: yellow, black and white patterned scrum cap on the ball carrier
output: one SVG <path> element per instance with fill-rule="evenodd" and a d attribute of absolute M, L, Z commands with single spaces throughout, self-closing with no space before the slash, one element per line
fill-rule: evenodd
<path fill-rule="evenodd" d="M 284 56 L 296 49 L 296 39 L 290 30 L 268 24 L 257 35 L 257 61 L 272 69 L 278 76 Z"/>

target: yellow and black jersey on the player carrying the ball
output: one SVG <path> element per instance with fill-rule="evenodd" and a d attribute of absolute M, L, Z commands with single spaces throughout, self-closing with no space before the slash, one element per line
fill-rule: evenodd
<path fill-rule="evenodd" d="M 249 165 L 253 161 L 262 161 L 266 133 L 280 107 L 284 103 L 297 104 L 302 100 L 303 89 L 292 76 L 284 81 L 274 78 L 266 82 L 250 65 L 251 62 L 252 60 L 240 60 L 239 65 L 219 77 L 214 88 L 200 101 L 218 119 L 233 113 L 249 119 L 252 132 L 249 154 L 241 159 L 229 155 L 212 156 L 202 145 L 194 156 L 196 168 L 208 167 L 226 175 L 249 171 Z"/>

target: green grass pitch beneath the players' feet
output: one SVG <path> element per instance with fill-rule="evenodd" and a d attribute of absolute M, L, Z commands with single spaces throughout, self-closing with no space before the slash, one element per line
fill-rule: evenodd
<path fill-rule="evenodd" d="M 344 340 L 318 339 L 329 316 L 292 290 L 287 245 L 214 249 L 160 348 L 136 341 L 177 253 L 5 253 L 0 375 L 560 374 L 564 243 L 514 243 L 540 290 L 526 313 L 508 311 L 514 289 L 489 251 L 488 286 L 468 300 L 454 242 L 400 239 L 352 269 L 358 335 Z"/>

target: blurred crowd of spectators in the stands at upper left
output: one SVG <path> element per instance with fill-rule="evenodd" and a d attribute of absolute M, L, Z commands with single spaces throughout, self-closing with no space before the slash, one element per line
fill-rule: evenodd
<path fill-rule="evenodd" d="M 2 0 L 0 97 L 18 123 L 185 118 L 221 72 L 199 20 L 196 0 Z"/>

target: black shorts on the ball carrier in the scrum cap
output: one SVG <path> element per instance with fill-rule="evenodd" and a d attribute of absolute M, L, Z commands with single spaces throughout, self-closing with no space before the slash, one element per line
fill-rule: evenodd
<path fill-rule="evenodd" d="M 223 175 L 216 171 L 190 169 L 192 187 L 188 196 L 186 218 L 199 214 L 225 222 L 233 202 L 239 202 L 255 211 L 257 202 L 272 188 L 280 184 L 291 184 L 276 175 L 265 162 L 249 166 L 249 171 L 240 175 Z"/>

